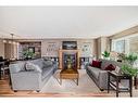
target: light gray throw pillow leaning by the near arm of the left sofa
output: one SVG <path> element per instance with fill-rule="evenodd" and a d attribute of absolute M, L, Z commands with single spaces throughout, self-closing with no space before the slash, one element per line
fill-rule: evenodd
<path fill-rule="evenodd" d="M 34 63 L 27 62 L 25 66 L 26 66 L 26 70 L 36 70 L 41 73 L 40 67 Z"/>

